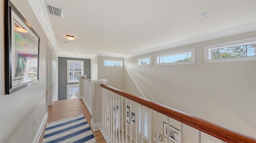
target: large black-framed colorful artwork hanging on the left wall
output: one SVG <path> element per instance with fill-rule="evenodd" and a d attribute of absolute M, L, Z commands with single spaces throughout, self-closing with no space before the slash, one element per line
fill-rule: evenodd
<path fill-rule="evenodd" d="M 5 93 L 39 81 L 40 37 L 17 8 L 4 0 Z"/>

